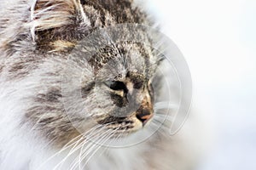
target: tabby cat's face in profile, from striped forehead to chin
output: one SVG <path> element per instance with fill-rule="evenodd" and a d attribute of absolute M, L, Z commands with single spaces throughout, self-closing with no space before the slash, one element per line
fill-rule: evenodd
<path fill-rule="evenodd" d="M 79 69 L 65 68 L 65 74 L 69 72 L 66 77 L 79 75 L 80 83 L 76 88 L 72 87 L 73 83 L 62 86 L 79 92 L 74 93 L 78 96 L 68 99 L 73 94 L 66 94 L 65 89 L 62 89 L 63 97 L 68 96 L 67 102 L 64 102 L 67 115 L 71 120 L 75 117 L 82 120 L 73 122 L 74 127 L 84 133 L 87 127 L 81 124 L 90 120 L 95 122 L 95 126 L 102 125 L 115 130 L 116 134 L 129 134 L 150 123 L 154 116 L 154 98 L 157 97 L 154 93 L 154 77 L 157 77 L 160 60 L 151 50 L 142 44 L 123 42 L 100 48 L 91 59 L 86 60 L 81 57 L 84 56 L 83 52 L 76 49 L 71 54 L 73 62 L 70 67 L 85 62 L 91 70 L 88 72 L 85 69 L 79 74 Z"/>

